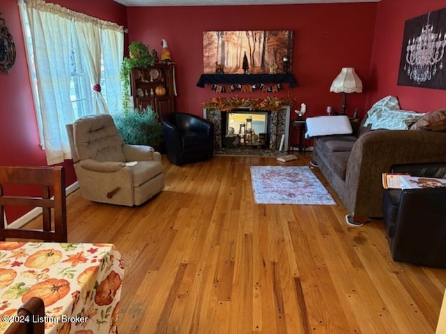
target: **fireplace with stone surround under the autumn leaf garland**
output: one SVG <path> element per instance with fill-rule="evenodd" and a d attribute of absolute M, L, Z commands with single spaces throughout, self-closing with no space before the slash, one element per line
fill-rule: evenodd
<path fill-rule="evenodd" d="M 228 132 L 232 132 L 232 129 L 230 128 L 233 128 L 235 134 L 233 137 L 238 136 L 240 139 L 237 143 L 240 148 L 255 146 L 267 150 L 279 150 L 283 137 L 282 150 L 288 150 L 290 109 L 290 106 L 284 106 L 279 111 L 253 111 L 243 107 L 227 112 L 203 109 L 203 118 L 210 120 L 215 125 L 215 150 L 221 150 L 222 148 L 231 145 L 231 139 L 228 140 L 229 144 L 226 143 L 225 140 Z M 237 116 L 234 117 L 234 115 Z M 249 122 L 250 116 L 251 121 Z M 231 120 L 233 120 L 232 123 Z M 240 127 L 240 123 L 245 124 L 245 126 Z M 246 132 L 246 129 L 249 130 L 249 123 L 251 123 L 251 127 L 254 129 L 256 136 L 254 138 L 249 136 L 243 136 L 243 138 L 241 138 L 239 134 L 240 130 L 242 134 L 244 131 Z M 262 130 L 265 132 L 261 132 Z M 261 141 L 263 138 L 261 134 L 266 134 L 264 143 Z M 236 138 L 233 138 L 232 143 L 234 143 L 234 141 L 236 141 Z M 244 141 L 247 145 L 245 145 Z"/>

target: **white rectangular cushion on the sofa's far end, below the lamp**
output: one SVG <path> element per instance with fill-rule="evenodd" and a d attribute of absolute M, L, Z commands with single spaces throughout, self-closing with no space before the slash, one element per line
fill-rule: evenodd
<path fill-rule="evenodd" d="M 306 138 L 331 134 L 351 134 L 353 132 L 350 120 L 345 115 L 309 117 L 306 123 Z"/>

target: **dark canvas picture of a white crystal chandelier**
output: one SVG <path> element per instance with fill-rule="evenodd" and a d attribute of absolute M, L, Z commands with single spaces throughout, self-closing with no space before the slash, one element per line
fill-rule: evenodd
<path fill-rule="evenodd" d="M 408 19 L 398 84 L 446 89 L 446 8 Z"/>

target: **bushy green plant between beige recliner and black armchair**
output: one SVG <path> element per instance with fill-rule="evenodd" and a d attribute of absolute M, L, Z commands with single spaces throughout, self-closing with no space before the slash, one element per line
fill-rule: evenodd
<path fill-rule="evenodd" d="M 114 120 L 126 144 L 157 147 L 162 141 L 162 125 L 151 106 L 118 114 Z"/>

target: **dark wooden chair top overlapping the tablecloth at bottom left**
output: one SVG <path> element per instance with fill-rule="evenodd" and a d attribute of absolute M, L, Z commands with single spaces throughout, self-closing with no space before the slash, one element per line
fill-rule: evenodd
<path fill-rule="evenodd" d="M 45 317 L 45 305 L 38 297 L 31 297 L 17 311 L 18 319 L 22 321 L 10 321 L 5 334 L 43 334 L 45 333 L 45 321 L 39 321 Z"/>

